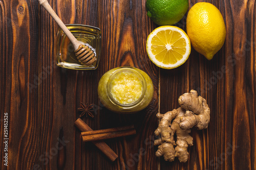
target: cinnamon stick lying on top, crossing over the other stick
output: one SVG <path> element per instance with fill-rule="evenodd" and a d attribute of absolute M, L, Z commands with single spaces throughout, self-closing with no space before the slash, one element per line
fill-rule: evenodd
<path fill-rule="evenodd" d="M 82 141 L 95 141 L 136 134 L 135 129 L 82 136 Z"/>

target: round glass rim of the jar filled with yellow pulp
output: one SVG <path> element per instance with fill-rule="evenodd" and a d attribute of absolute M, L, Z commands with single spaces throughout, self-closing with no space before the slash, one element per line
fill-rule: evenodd
<path fill-rule="evenodd" d="M 122 107 L 123 109 L 131 109 L 131 108 L 134 108 L 136 106 L 138 106 L 141 102 L 142 102 L 142 99 L 144 98 L 145 96 L 145 93 L 146 93 L 146 80 L 145 78 L 143 77 L 143 75 L 138 71 L 136 70 L 137 68 L 135 67 L 119 67 L 117 70 L 115 70 L 114 72 L 112 72 L 112 74 L 110 75 L 110 78 L 109 78 L 109 81 L 106 85 L 106 90 L 107 90 L 107 95 L 108 95 L 108 98 L 110 99 L 110 101 L 116 105 L 116 106 L 120 106 Z M 110 90 L 111 90 L 111 82 L 112 80 L 114 79 L 114 77 L 122 72 L 122 71 L 130 71 L 132 72 L 133 74 L 135 74 L 138 78 L 140 78 L 141 82 L 142 82 L 142 94 L 140 96 L 140 98 L 136 101 L 136 102 L 133 102 L 131 104 L 121 104 L 119 102 L 117 102 L 114 97 L 112 96 Z"/>

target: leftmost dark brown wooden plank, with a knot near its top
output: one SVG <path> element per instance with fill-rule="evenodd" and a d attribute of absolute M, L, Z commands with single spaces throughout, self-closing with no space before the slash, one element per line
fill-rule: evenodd
<path fill-rule="evenodd" d="M 1 8 L 1 118 L 8 113 L 8 168 L 29 169 L 38 160 L 38 93 L 30 86 L 36 69 L 37 3 L 0 1 Z M 29 84 L 30 83 L 30 84 Z M 2 122 L 1 122 L 2 125 Z M 1 147 L 3 147 L 1 126 Z M 4 151 L 1 151 L 4 155 Z M 2 154 L 1 154 L 2 155 Z M 1 156 L 1 167 L 3 164 Z"/>

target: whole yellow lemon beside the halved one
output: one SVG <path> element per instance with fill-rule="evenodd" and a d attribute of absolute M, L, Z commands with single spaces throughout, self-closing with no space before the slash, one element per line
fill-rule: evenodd
<path fill-rule="evenodd" d="M 210 3 L 191 7 L 187 14 L 187 35 L 193 48 L 211 60 L 226 37 L 225 23 L 218 8 Z"/>

